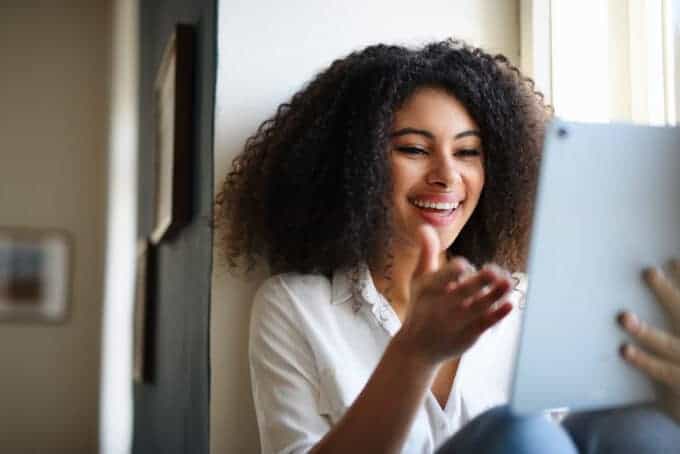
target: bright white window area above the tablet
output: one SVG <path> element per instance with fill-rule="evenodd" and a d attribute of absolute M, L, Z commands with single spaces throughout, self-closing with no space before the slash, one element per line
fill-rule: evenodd
<path fill-rule="evenodd" d="M 522 66 L 558 116 L 676 123 L 679 0 L 521 0 Z"/>

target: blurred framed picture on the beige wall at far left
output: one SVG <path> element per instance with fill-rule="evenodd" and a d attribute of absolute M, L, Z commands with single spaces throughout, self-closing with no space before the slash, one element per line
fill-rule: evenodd
<path fill-rule="evenodd" d="M 0 320 L 63 322 L 72 261 L 63 231 L 0 227 Z"/>

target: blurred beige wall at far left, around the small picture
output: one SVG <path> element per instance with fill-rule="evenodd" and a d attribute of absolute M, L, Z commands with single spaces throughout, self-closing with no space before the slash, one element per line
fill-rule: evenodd
<path fill-rule="evenodd" d="M 97 451 L 109 22 L 108 0 L 0 5 L 0 225 L 75 245 L 68 320 L 0 323 L 3 453 Z"/>

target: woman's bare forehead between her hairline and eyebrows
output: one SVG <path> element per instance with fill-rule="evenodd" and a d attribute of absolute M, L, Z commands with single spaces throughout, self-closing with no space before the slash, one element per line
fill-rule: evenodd
<path fill-rule="evenodd" d="M 419 88 L 394 112 L 393 129 L 418 127 L 433 133 L 478 130 L 477 123 L 456 97 L 441 88 Z"/>

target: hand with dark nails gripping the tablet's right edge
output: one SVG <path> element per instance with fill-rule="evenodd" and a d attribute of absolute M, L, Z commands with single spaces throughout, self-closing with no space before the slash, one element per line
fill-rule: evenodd
<path fill-rule="evenodd" d="M 669 315 L 673 331 L 650 326 L 625 312 L 619 322 L 642 348 L 627 344 L 621 353 L 626 361 L 668 387 L 667 410 L 680 422 L 680 260 L 673 260 L 669 268 L 668 275 L 659 268 L 645 270 L 644 279 Z"/>

